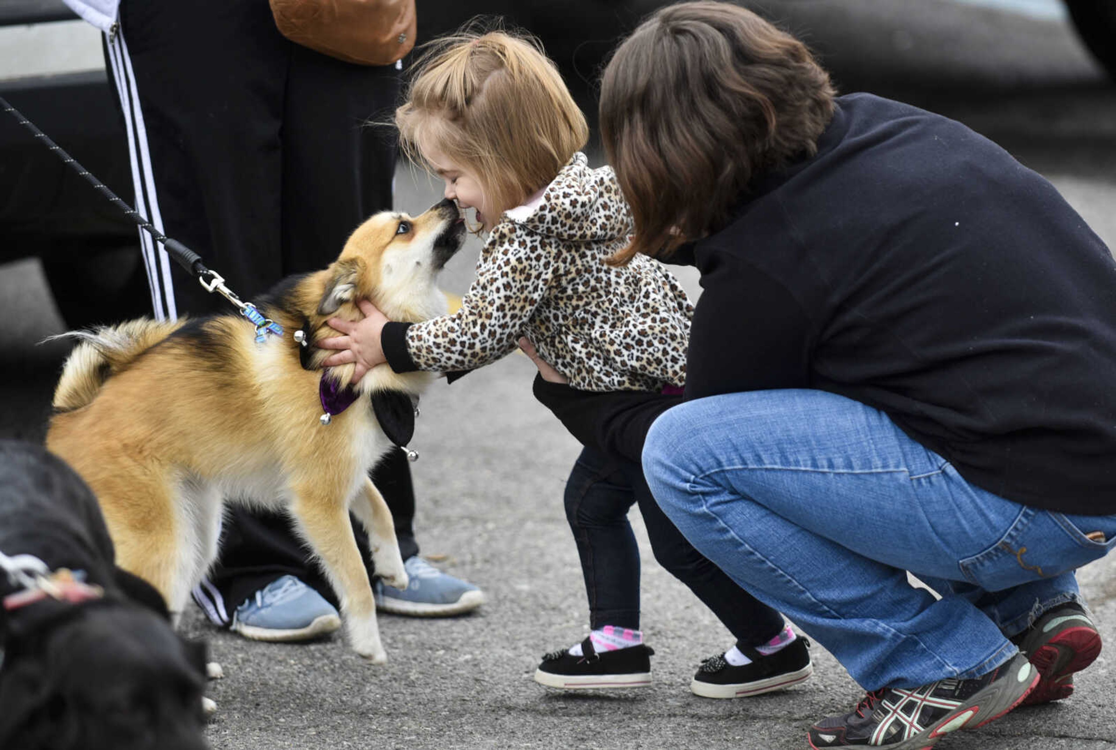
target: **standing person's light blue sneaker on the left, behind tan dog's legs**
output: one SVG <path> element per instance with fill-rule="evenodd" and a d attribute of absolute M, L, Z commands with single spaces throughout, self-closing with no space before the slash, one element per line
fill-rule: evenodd
<path fill-rule="evenodd" d="M 341 626 L 334 605 L 295 576 L 271 581 L 244 600 L 229 629 L 253 641 L 308 641 Z"/>

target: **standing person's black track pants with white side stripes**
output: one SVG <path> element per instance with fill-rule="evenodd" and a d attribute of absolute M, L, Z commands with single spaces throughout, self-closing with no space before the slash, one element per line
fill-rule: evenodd
<path fill-rule="evenodd" d="M 324 268 L 365 218 L 392 206 L 394 131 L 369 123 L 389 121 L 397 104 L 394 66 L 350 65 L 290 42 L 262 0 L 124 0 L 106 61 L 137 210 L 246 301 L 287 275 Z M 156 318 L 228 305 L 144 232 L 141 240 Z M 416 554 L 402 453 L 386 456 L 374 481 L 404 557 Z M 203 586 L 205 609 L 228 624 L 240 602 L 287 573 L 334 598 L 286 516 L 234 508 Z"/>

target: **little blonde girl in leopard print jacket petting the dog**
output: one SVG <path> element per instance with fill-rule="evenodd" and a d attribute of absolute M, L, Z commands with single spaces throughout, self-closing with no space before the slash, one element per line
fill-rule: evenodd
<path fill-rule="evenodd" d="M 468 371 L 529 339 L 538 356 L 585 391 L 677 388 L 685 379 L 693 306 L 657 261 L 609 259 L 632 219 L 608 167 L 579 152 L 588 128 L 555 66 L 529 40 L 503 32 L 443 40 L 420 62 L 396 112 L 405 152 L 445 181 L 488 233 L 477 278 L 453 315 L 389 323 L 331 320 L 347 334 L 321 342 L 326 360 L 357 375 Z M 650 684 L 652 651 L 639 631 L 639 556 L 627 511 L 638 502 L 660 562 L 738 638 L 705 660 L 692 690 L 737 698 L 809 676 L 806 644 L 782 617 L 702 557 L 656 506 L 639 467 L 586 449 L 566 489 L 567 518 L 589 597 L 590 634 L 548 654 L 536 680 L 560 689 Z"/>

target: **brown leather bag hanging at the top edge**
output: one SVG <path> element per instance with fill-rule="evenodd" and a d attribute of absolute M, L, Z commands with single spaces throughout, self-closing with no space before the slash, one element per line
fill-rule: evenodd
<path fill-rule="evenodd" d="M 270 0 L 279 32 L 346 62 L 391 65 L 415 44 L 415 0 Z"/>

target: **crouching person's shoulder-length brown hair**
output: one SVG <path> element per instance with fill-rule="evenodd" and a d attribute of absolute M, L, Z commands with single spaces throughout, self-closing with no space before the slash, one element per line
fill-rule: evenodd
<path fill-rule="evenodd" d="M 806 46 L 728 2 L 645 20 L 600 86 L 600 135 L 635 235 L 609 262 L 708 234 L 753 179 L 812 155 L 833 118 L 829 75 Z"/>

